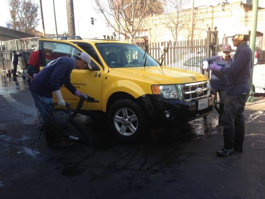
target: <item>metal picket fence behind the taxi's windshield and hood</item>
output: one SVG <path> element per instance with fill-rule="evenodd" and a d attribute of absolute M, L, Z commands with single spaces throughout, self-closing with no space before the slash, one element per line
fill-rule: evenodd
<path fill-rule="evenodd" d="M 218 31 L 207 31 L 207 38 L 177 42 L 152 42 L 148 52 L 162 65 L 203 73 L 202 60 L 219 51 Z M 145 49 L 145 44 L 140 43 Z M 208 75 L 208 74 L 206 74 Z"/>

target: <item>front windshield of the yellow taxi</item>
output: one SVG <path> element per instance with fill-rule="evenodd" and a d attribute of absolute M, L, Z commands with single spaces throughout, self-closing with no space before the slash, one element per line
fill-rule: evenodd
<path fill-rule="evenodd" d="M 159 66 L 159 63 L 142 48 L 133 44 L 98 43 L 96 47 L 111 68 Z"/>

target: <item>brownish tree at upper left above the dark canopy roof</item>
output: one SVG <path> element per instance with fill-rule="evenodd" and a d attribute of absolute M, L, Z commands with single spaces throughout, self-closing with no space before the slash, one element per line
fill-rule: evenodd
<path fill-rule="evenodd" d="M 38 25 L 39 5 L 32 0 L 8 0 L 12 28 L 26 33 L 34 33 Z"/>

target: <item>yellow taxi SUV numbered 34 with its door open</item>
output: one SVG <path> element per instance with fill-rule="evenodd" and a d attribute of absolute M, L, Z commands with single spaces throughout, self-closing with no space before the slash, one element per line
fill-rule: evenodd
<path fill-rule="evenodd" d="M 136 140 L 151 127 L 181 124 L 213 109 L 207 77 L 160 66 L 135 44 L 41 38 L 40 66 L 46 63 L 44 46 L 53 46 L 50 59 L 73 58 L 80 52 L 90 55 L 92 69 L 74 69 L 71 82 L 98 102 L 84 102 L 80 113 L 106 116 L 109 130 L 122 140 Z M 65 101 L 75 109 L 79 98 L 65 88 L 61 91 Z"/>

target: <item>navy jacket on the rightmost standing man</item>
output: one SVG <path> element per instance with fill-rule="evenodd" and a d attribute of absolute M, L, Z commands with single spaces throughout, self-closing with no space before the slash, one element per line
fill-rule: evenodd
<path fill-rule="evenodd" d="M 251 61 L 252 51 L 247 42 L 244 42 L 237 47 L 230 67 L 221 69 L 221 72 L 228 76 L 227 96 L 238 96 L 249 92 Z"/>

